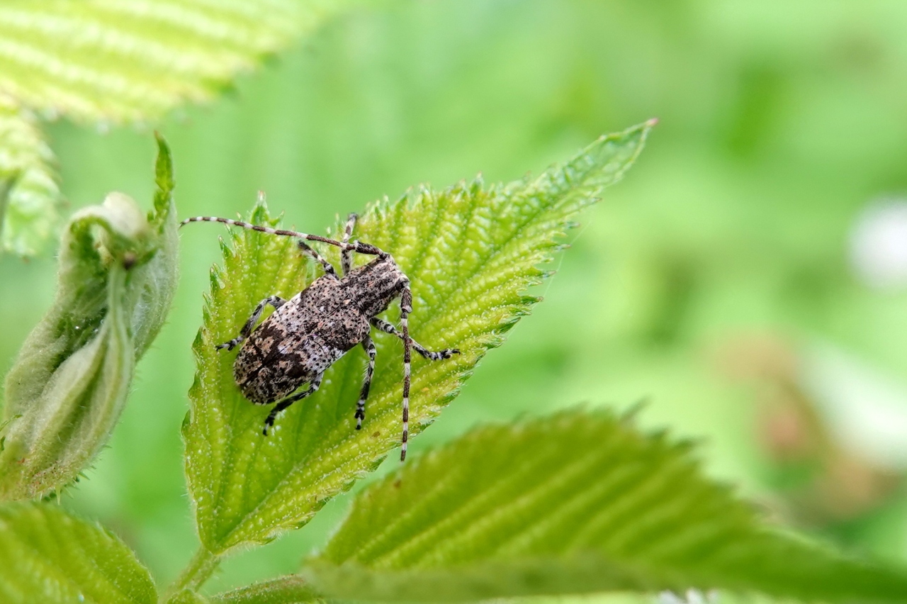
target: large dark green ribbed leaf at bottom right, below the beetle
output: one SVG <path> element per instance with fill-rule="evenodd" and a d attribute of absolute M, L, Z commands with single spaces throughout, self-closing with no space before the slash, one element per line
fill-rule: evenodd
<path fill-rule="evenodd" d="M 907 573 L 766 527 L 688 443 L 604 411 L 485 427 L 359 494 L 303 576 L 349 599 L 728 589 L 902 602 Z"/>

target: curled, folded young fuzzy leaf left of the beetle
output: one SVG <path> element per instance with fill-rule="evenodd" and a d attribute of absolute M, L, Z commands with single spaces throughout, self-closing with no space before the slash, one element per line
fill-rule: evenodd
<path fill-rule="evenodd" d="M 63 232 L 54 306 L 5 380 L 0 499 L 42 497 L 83 471 L 107 442 L 134 365 L 163 325 L 178 239 L 170 151 L 158 144 L 147 218 L 111 193 Z"/>

